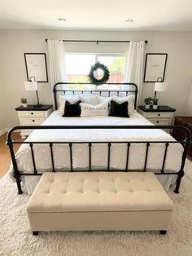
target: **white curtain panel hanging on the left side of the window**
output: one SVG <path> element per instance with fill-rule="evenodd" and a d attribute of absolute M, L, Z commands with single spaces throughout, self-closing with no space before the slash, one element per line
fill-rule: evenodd
<path fill-rule="evenodd" d="M 47 40 L 50 63 L 50 99 L 54 102 L 53 87 L 56 82 L 66 82 L 66 68 L 63 42 Z"/>

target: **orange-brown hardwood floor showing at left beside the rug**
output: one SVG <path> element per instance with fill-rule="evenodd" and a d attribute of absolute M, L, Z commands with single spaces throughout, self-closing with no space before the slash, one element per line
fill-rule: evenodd
<path fill-rule="evenodd" d="M 20 133 L 18 132 L 15 132 L 13 134 L 13 139 L 20 139 L 21 141 L 24 140 L 20 138 Z M 8 146 L 6 145 L 6 140 L 7 134 L 0 136 L 0 179 L 2 178 L 2 176 L 4 176 L 4 174 L 7 173 L 11 164 L 10 152 Z M 20 148 L 20 144 L 16 144 L 14 146 L 15 151 L 17 151 L 18 148 Z"/>

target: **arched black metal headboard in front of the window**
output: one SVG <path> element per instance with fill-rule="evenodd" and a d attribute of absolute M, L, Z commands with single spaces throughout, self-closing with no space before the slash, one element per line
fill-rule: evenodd
<path fill-rule="evenodd" d="M 76 87 L 79 86 L 82 90 L 76 90 Z M 58 94 L 66 95 L 72 94 L 93 94 L 93 95 L 103 95 L 103 96 L 120 96 L 124 97 L 127 95 L 135 95 L 134 107 L 136 108 L 137 104 L 137 85 L 131 82 L 108 82 L 105 84 L 93 84 L 89 82 L 57 82 L 53 89 L 54 100 L 55 100 L 55 109 L 58 109 Z"/>

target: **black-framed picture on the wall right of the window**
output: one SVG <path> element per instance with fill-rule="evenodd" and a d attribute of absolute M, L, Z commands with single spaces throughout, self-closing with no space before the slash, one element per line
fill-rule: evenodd
<path fill-rule="evenodd" d="M 164 82 L 167 59 L 167 53 L 146 53 L 143 82 Z"/>

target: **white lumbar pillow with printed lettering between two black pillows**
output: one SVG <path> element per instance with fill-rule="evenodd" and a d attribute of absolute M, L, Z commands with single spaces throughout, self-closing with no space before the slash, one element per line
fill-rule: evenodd
<path fill-rule="evenodd" d="M 108 116 L 108 103 L 90 105 L 81 103 L 81 117 Z"/>

